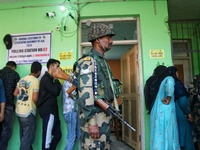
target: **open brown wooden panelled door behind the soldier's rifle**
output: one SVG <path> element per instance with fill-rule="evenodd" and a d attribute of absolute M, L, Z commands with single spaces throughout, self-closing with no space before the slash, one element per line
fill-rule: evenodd
<path fill-rule="evenodd" d="M 123 83 L 122 117 L 136 132 L 122 124 L 122 140 L 135 150 L 141 149 L 140 93 L 139 93 L 138 45 L 134 45 L 121 58 Z"/>

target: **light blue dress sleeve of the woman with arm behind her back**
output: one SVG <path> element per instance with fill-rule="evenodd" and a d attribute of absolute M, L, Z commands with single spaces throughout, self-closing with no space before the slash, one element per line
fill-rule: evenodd
<path fill-rule="evenodd" d="M 172 77 L 167 77 L 168 79 L 166 80 L 165 84 L 165 90 L 166 90 L 166 95 L 170 97 L 174 97 L 174 79 Z"/>

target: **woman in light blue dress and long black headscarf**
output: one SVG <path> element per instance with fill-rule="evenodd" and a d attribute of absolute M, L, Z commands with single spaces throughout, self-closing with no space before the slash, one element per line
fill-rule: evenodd
<path fill-rule="evenodd" d="M 179 150 L 174 102 L 174 79 L 167 67 L 158 66 L 146 81 L 146 108 L 150 113 L 150 150 Z"/>

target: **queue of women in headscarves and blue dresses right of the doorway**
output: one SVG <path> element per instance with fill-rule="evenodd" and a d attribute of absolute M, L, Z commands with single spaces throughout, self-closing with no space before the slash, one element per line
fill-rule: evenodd
<path fill-rule="evenodd" d="M 194 130 L 199 123 L 193 122 L 198 111 L 194 113 L 191 109 L 189 95 L 195 93 L 191 85 L 188 91 L 179 80 L 177 68 L 163 65 L 157 66 L 146 81 L 144 94 L 150 114 L 151 150 L 199 150 L 198 128 Z"/>

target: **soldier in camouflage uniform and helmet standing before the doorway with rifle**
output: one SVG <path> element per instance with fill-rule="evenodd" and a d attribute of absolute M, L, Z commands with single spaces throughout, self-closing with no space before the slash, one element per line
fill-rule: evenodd
<path fill-rule="evenodd" d="M 115 86 L 104 53 L 111 49 L 114 32 L 105 24 L 93 24 L 88 33 L 92 49 L 77 62 L 82 149 L 109 150 L 112 115 L 95 102 L 111 104 Z"/>

